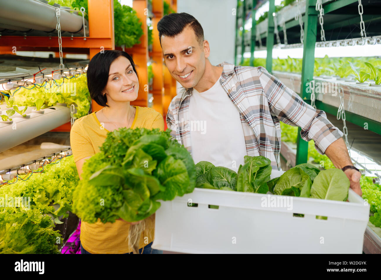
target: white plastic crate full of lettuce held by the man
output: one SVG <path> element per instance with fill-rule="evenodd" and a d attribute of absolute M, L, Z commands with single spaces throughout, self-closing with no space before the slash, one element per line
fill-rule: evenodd
<path fill-rule="evenodd" d="M 283 173 L 273 170 L 271 178 Z M 362 253 L 370 206 L 351 189 L 349 202 L 292 197 L 292 210 L 266 207 L 272 197 L 287 198 L 195 188 L 161 202 L 152 248 L 182 253 Z"/>

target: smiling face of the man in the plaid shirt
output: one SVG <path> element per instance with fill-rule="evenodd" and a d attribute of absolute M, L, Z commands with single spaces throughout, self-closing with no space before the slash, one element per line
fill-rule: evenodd
<path fill-rule="evenodd" d="M 165 65 L 171 76 L 184 88 L 197 85 L 204 74 L 209 53 L 205 51 L 205 44 L 200 46 L 192 27 L 184 28 L 173 38 L 162 35 L 161 43 Z"/>

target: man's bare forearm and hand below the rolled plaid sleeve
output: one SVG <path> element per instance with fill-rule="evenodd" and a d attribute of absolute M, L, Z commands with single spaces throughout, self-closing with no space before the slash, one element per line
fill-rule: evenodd
<path fill-rule="evenodd" d="M 346 165 L 353 165 L 351 157 L 349 157 L 347 146 L 343 138 L 337 139 L 325 150 L 325 154 L 331 160 L 336 168 L 343 168 Z M 344 171 L 349 181 L 351 182 L 351 189 L 358 195 L 362 195 L 360 178 L 361 173 L 355 169 L 347 169 Z"/>

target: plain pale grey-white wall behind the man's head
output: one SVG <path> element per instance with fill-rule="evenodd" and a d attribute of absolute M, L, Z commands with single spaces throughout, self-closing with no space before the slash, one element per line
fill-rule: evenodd
<path fill-rule="evenodd" d="M 237 0 L 177 0 L 177 12 L 194 16 L 210 44 L 212 65 L 227 61 L 234 63 L 235 16 Z"/>

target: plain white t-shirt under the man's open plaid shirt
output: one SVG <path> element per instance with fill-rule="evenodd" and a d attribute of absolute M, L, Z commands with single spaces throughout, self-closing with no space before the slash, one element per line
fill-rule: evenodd
<path fill-rule="evenodd" d="M 228 168 L 243 165 L 247 151 L 240 112 L 219 79 L 202 93 L 193 89 L 189 121 L 194 163 L 205 160 Z"/>

